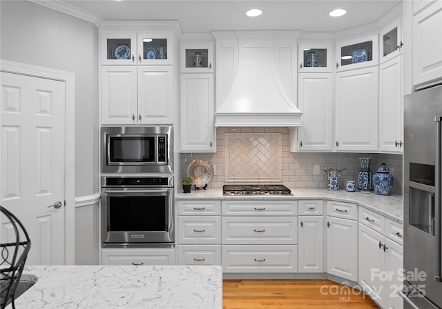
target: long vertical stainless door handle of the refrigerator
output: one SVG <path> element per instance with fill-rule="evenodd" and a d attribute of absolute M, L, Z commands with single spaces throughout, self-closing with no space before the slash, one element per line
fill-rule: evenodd
<path fill-rule="evenodd" d="M 434 117 L 436 122 L 436 275 L 434 281 L 442 282 L 442 116 Z"/>

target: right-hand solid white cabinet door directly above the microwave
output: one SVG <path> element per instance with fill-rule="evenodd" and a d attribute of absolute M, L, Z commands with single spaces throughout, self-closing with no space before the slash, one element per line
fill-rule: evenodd
<path fill-rule="evenodd" d="M 138 67 L 138 124 L 173 124 L 173 67 Z"/>

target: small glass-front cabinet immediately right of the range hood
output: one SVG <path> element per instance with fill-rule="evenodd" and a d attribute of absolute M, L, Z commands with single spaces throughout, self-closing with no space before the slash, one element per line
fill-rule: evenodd
<path fill-rule="evenodd" d="M 298 72 L 332 72 L 332 43 L 300 42 Z"/>

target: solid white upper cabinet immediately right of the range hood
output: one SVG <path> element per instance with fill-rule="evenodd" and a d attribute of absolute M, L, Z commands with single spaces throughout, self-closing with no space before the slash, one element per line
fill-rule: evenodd
<path fill-rule="evenodd" d="M 332 73 L 300 73 L 298 75 L 298 107 L 303 126 L 290 128 L 297 142 L 291 151 L 332 151 L 334 126 L 334 78 Z"/>

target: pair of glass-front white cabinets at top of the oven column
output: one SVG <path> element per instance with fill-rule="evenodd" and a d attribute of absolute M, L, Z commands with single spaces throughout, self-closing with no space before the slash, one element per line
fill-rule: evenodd
<path fill-rule="evenodd" d="M 100 30 L 100 37 L 102 65 L 173 64 L 172 31 Z"/>

